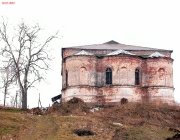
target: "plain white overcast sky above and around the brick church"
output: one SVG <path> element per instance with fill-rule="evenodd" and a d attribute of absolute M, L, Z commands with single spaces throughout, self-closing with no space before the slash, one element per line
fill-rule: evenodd
<path fill-rule="evenodd" d="M 61 92 L 61 48 L 100 44 L 115 40 L 122 44 L 173 50 L 175 99 L 180 101 L 180 1 L 179 0 L 0 0 L 0 16 L 11 24 L 23 19 L 39 23 L 48 36 L 59 30 L 48 83 L 28 93 L 29 107 L 43 106 Z M 14 4 L 4 4 L 13 2 Z M 3 98 L 0 93 L 0 104 Z"/>

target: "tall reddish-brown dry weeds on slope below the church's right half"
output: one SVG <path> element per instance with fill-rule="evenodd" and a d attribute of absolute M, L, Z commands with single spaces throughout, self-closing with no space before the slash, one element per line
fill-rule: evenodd
<path fill-rule="evenodd" d="M 180 127 L 180 107 L 167 104 L 128 103 L 106 108 L 104 118 L 119 121 L 126 125 L 148 124 L 157 127 Z"/>

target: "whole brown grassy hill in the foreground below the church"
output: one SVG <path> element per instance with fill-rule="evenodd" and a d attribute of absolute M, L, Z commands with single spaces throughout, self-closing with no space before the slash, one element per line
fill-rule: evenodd
<path fill-rule="evenodd" d="M 166 104 L 127 103 L 91 112 L 77 101 L 41 116 L 0 108 L 1 140 L 165 140 L 179 130 L 180 107 Z"/>

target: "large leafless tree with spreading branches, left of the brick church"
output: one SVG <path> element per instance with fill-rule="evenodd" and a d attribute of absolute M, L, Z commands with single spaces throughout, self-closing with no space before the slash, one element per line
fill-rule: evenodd
<path fill-rule="evenodd" d="M 22 109 L 27 109 L 27 91 L 35 82 L 44 79 L 43 71 L 49 69 L 52 60 L 48 44 L 57 37 L 48 37 L 39 43 L 39 33 L 42 29 L 38 24 L 29 26 L 21 22 L 14 29 L 13 36 L 8 34 L 8 24 L 3 20 L 0 25 L 0 39 L 4 43 L 2 55 L 8 59 L 8 66 L 14 71 L 13 78 L 17 80 L 22 93 Z"/>

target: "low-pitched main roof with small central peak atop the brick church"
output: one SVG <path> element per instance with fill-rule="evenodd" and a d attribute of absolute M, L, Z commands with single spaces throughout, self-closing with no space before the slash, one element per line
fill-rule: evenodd
<path fill-rule="evenodd" d="M 150 51 L 150 50 L 155 50 L 155 51 L 172 51 L 172 50 L 164 50 L 164 49 L 157 49 L 157 48 L 149 48 L 149 47 L 141 47 L 141 46 L 133 46 L 133 45 L 125 45 L 118 43 L 114 40 L 111 40 L 109 42 L 103 43 L 103 44 L 94 44 L 94 45 L 85 45 L 85 46 L 75 46 L 75 47 L 67 47 L 67 48 L 72 48 L 72 49 L 83 49 L 83 50 L 88 50 L 88 49 L 93 49 L 93 50 L 126 50 L 126 51 Z"/>

